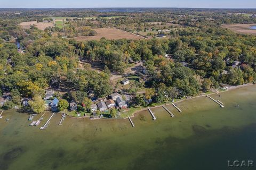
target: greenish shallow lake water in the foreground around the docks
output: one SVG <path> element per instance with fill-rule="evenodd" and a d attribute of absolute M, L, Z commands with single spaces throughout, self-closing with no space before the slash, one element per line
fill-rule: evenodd
<path fill-rule="evenodd" d="M 256 163 L 256 86 L 199 97 L 129 120 L 88 120 L 54 115 L 46 130 L 28 115 L 5 111 L 0 119 L 0 169 L 228 169 L 227 160 Z M 239 107 L 236 107 L 239 105 Z M 45 123 L 50 113 L 45 114 Z M 9 122 L 5 118 L 10 118 Z M 39 116 L 35 116 L 35 120 Z M 254 165 L 256 166 L 256 165 Z M 237 168 L 239 169 L 239 168 Z M 251 169 L 251 168 L 245 168 Z M 253 169 L 253 168 L 252 168 Z"/>

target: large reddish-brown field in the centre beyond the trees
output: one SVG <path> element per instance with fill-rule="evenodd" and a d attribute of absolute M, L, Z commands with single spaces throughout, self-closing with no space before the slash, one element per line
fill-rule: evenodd
<path fill-rule="evenodd" d="M 85 40 L 100 40 L 102 37 L 106 39 L 142 39 L 143 37 L 134 35 L 130 32 L 125 32 L 116 28 L 97 28 L 93 29 L 98 34 L 96 36 L 80 36 L 74 37 L 70 39 L 75 39 L 77 41 L 85 41 Z"/>

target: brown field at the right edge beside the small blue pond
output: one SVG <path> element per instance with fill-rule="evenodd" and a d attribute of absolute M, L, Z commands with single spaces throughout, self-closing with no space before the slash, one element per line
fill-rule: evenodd
<path fill-rule="evenodd" d="M 255 25 L 255 24 L 254 24 Z M 256 35 L 256 30 L 250 29 L 253 24 L 223 24 L 222 28 L 230 29 L 237 33 Z"/>

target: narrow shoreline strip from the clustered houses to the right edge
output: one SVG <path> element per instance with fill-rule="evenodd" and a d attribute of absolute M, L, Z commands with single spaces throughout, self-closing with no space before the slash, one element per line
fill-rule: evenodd
<path fill-rule="evenodd" d="M 150 109 L 153 109 L 153 108 L 159 108 L 159 107 L 163 107 L 163 106 L 168 106 L 168 105 L 171 105 L 171 104 L 177 104 L 177 103 L 180 103 L 182 101 L 186 101 L 186 100 L 190 100 L 190 99 L 194 99 L 194 98 L 198 98 L 198 97 L 205 97 L 206 95 L 210 96 L 210 95 L 213 95 L 213 94 L 220 94 L 222 92 L 228 92 L 230 90 L 235 90 L 235 89 L 239 89 L 239 88 L 243 88 L 243 87 L 247 87 L 247 86 L 252 86 L 254 85 L 254 83 L 247 83 L 247 84 L 244 84 L 244 85 L 238 85 L 238 86 L 230 86 L 227 90 L 225 91 L 219 91 L 219 92 L 212 92 L 211 94 L 204 94 L 204 95 L 198 95 L 198 96 L 194 96 L 194 97 L 190 97 L 190 98 L 186 98 L 186 99 L 181 99 L 179 101 L 175 101 L 175 102 L 171 102 L 171 103 L 165 103 L 165 104 L 159 104 L 157 106 L 153 106 L 153 107 L 146 107 L 146 108 L 142 108 L 140 109 L 139 111 L 135 111 L 134 113 L 131 114 L 130 117 L 135 117 L 135 114 L 139 113 L 139 112 L 142 112 L 142 111 L 146 111 L 148 108 Z M 163 105 L 163 106 L 162 106 Z M 73 117 L 73 116 L 69 116 L 71 118 L 77 118 L 77 119 L 80 119 L 80 118 L 90 118 L 88 116 L 85 116 L 85 117 Z M 125 120 L 129 117 L 124 117 L 124 118 L 93 118 L 93 119 L 90 119 L 90 120 Z"/>

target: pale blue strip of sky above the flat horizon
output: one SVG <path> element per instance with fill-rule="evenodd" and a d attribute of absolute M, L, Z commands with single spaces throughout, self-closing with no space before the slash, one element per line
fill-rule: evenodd
<path fill-rule="evenodd" d="M 0 8 L 73 7 L 256 8 L 256 0 L 0 0 Z"/>

